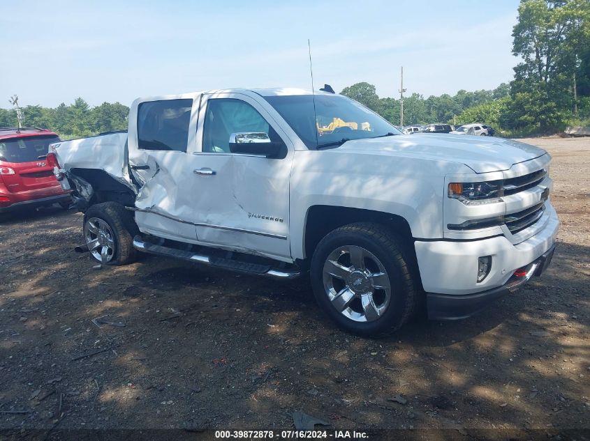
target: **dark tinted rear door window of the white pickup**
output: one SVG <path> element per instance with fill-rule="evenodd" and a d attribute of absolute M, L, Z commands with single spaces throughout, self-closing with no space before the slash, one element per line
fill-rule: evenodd
<path fill-rule="evenodd" d="M 142 150 L 186 152 L 193 100 L 142 102 L 138 108 L 138 144 Z"/>

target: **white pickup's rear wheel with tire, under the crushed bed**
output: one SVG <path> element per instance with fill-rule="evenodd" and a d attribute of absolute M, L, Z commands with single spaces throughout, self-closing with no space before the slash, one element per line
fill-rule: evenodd
<path fill-rule="evenodd" d="M 91 256 L 103 265 L 131 263 L 136 233 L 131 213 L 119 203 L 97 203 L 84 215 L 84 240 Z"/>

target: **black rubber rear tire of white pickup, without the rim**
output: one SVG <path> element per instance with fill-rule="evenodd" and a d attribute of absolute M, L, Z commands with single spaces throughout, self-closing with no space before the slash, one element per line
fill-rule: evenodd
<path fill-rule="evenodd" d="M 110 226 L 114 235 L 115 249 L 112 252 L 112 259 L 106 262 L 107 265 L 126 265 L 135 260 L 135 248 L 133 248 L 133 237 L 139 233 L 131 212 L 125 210 L 121 204 L 116 202 L 96 203 L 84 214 L 84 226 L 88 219 L 98 218 Z M 91 256 L 98 262 L 101 259 Z"/>

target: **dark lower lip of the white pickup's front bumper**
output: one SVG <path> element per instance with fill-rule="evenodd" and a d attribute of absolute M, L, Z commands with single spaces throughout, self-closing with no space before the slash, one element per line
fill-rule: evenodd
<path fill-rule="evenodd" d="M 531 277 L 540 276 L 550 265 L 554 251 L 555 245 L 536 261 L 524 267 L 525 276 L 512 276 L 506 284 L 498 288 L 467 295 L 427 293 L 428 318 L 431 320 L 460 320 L 477 314 L 499 297 L 516 291 L 520 286 L 526 284 Z"/>

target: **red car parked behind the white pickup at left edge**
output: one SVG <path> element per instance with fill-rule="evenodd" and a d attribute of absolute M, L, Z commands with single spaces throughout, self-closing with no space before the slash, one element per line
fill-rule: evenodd
<path fill-rule="evenodd" d="M 0 127 L 0 212 L 52 203 L 69 206 L 69 192 L 45 160 L 49 145 L 57 141 L 57 134 L 47 129 Z"/>

